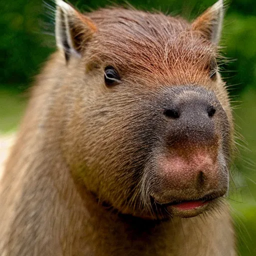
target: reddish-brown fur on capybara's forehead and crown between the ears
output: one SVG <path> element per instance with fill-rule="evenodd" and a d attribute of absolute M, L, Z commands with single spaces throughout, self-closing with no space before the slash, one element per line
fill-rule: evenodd
<path fill-rule="evenodd" d="M 122 8 L 103 9 L 88 16 L 98 26 L 86 61 L 100 59 L 120 73 L 132 73 L 136 81 L 153 87 L 208 83 L 211 60 L 217 47 L 191 29 L 182 18 Z M 132 78 L 132 77 L 129 77 Z M 134 80 L 132 80 L 134 82 Z"/>

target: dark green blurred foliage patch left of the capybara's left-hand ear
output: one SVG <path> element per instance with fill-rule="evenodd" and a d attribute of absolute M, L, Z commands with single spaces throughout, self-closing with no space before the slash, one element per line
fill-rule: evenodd
<path fill-rule="evenodd" d="M 38 28 L 40 1 L 0 0 L 0 84 L 28 86 L 50 50 Z"/>

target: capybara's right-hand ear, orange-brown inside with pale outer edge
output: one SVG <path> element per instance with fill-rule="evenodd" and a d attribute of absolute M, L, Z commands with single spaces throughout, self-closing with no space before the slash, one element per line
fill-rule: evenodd
<path fill-rule="evenodd" d="M 221 35 L 223 16 L 223 0 L 218 0 L 193 21 L 192 30 L 198 31 L 201 36 L 217 45 Z"/>

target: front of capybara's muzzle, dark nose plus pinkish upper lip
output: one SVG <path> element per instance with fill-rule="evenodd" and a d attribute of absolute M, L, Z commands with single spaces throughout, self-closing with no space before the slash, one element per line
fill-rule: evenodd
<path fill-rule="evenodd" d="M 214 190 L 218 181 L 219 127 L 223 108 L 215 94 L 199 86 L 170 88 L 163 99 L 165 149 L 158 157 L 166 189 L 182 198 L 183 191 Z M 188 192 L 187 192 L 188 193 Z"/>

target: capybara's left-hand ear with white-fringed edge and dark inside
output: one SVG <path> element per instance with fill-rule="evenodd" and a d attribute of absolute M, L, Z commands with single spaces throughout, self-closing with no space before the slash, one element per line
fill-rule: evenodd
<path fill-rule="evenodd" d="M 93 22 L 62 0 L 56 0 L 55 36 L 57 47 L 64 50 L 68 62 L 81 52 L 97 30 Z"/>

